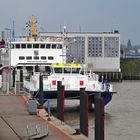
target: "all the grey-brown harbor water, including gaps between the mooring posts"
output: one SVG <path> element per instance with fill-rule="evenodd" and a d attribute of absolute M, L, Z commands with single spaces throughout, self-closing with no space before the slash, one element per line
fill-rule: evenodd
<path fill-rule="evenodd" d="M 105 140 L 140 139 L 140 81 L 113 83 L 117 94 L 105 107 Z M 65 122 L 79 128 L 79 101 L 65 101 Z M 52 114 L 56 114 L 51 102 Z M 94 139 L 94 110 L 89 113 L 89 140 Z"/>

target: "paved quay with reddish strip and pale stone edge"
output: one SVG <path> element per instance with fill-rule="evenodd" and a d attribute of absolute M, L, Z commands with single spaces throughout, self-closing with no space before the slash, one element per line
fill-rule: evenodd
<path fill-rule="evenodd" d="M 37 115 L 28 112 L 25 95 L 0 94 L 0 139 L 28 140 L 27 126 L 43 124 L 48 126 L 48 135 L 41 140 L 87 140 L 82 134 L 74 135 L 75 130 L 64 122 L 51 116 L 47 120 L 47 112 L 38 109 Z"/>

